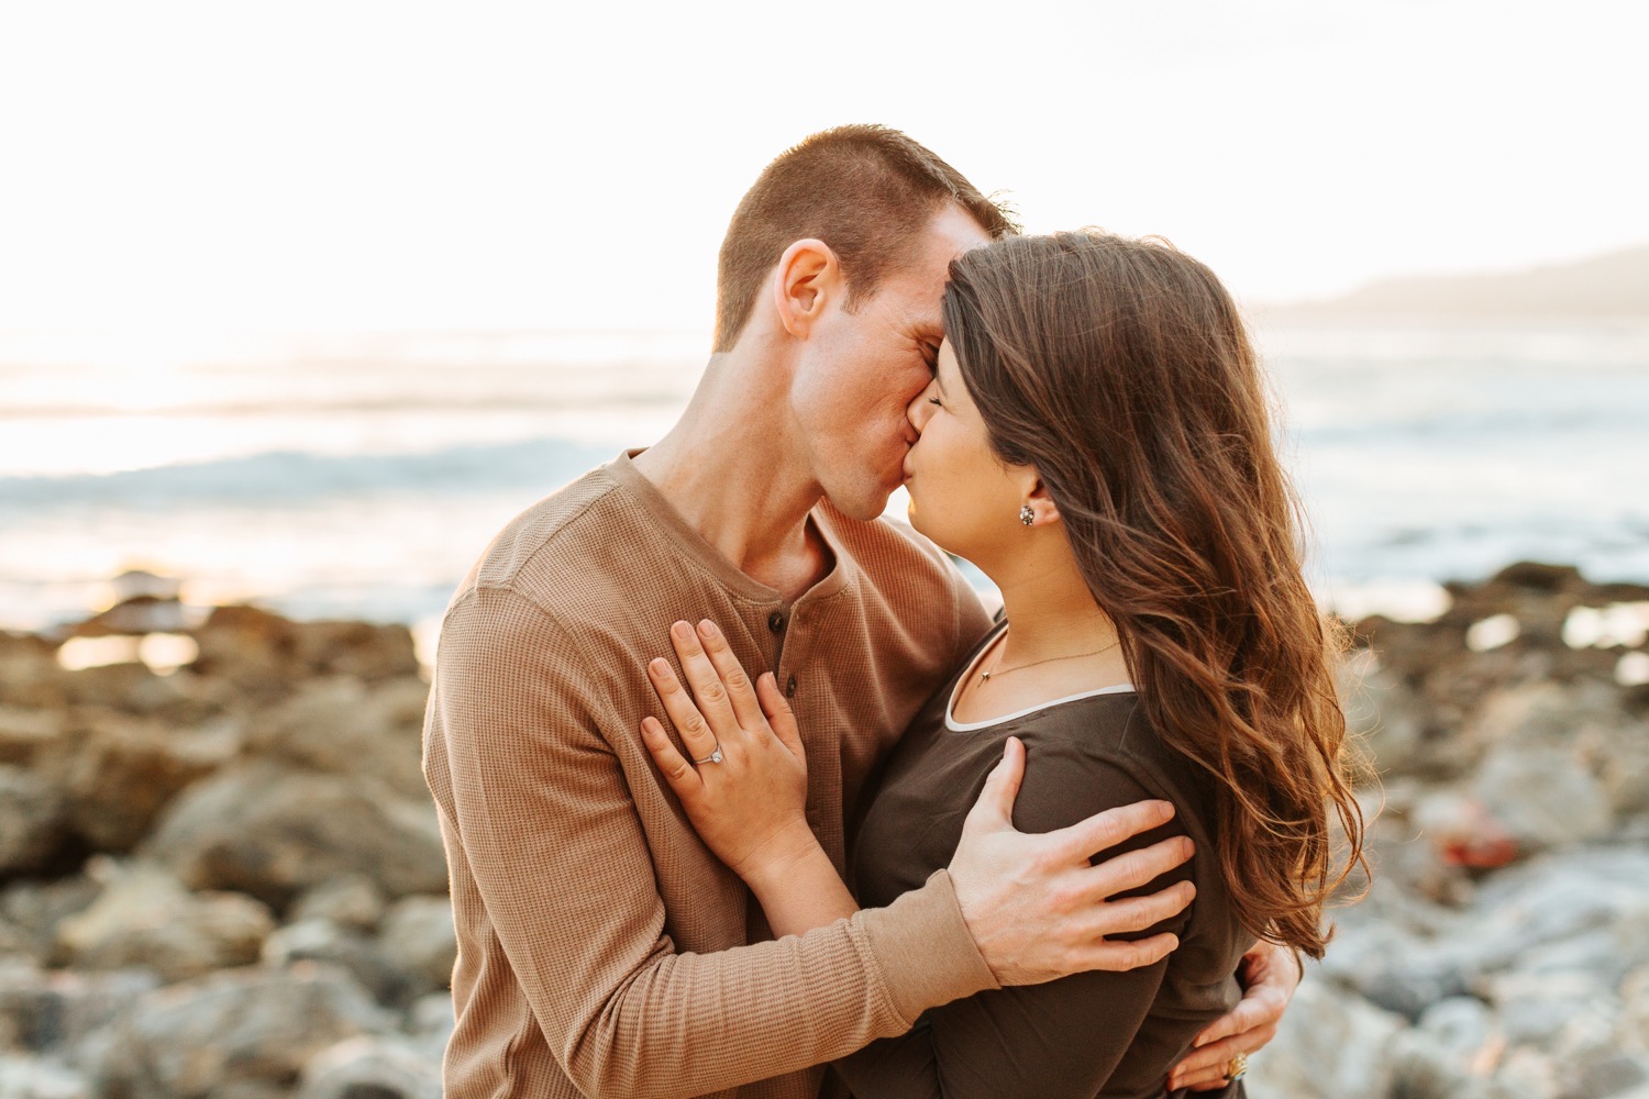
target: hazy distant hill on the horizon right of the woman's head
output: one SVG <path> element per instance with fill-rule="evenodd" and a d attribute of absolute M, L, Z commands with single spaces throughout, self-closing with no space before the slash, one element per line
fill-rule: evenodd
<path fill-rule="evenodd" d="M 1385 278 L 1339 298 L 1257 311 L 1273 320 L 1649 320 L 1649 246 L 1494 275 Z"/>

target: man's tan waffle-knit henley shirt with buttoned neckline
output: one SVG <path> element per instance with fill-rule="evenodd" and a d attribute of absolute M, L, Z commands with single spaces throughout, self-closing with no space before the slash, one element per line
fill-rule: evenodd
<path fill-rule="evenodd" d="M 671 621 L 712 618 L 792 694 L 808 821 L 843 867 L 843 806 L 989 621 L 907 529 L 811 522 L 834 562 L 788 603 L 620 456 L 518 516 L 458 587 L 424 727 L 458 931 L 449 1099 L 813 1099 L 808 1066 L 996 985 L 943 873 L 763 942 L 640 740 L 643 715 L 666 720 L 646 661 L 671 656 Z"/>

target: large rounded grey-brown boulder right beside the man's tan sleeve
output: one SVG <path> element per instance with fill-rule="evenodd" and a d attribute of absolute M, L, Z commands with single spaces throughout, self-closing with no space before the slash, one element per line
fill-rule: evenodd
<path fill-rule="evenodd" d="M 186 789 L 140 850 L 191 888 L 239 890 L 277 910 L 338 875 L 364 877 L 386 896 L 447 888 L 427 796 L 261 761 Z"/>

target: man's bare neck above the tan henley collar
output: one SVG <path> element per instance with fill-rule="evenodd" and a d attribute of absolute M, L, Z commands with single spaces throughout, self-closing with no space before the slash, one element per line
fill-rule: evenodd
<path fill-rule="evenodd" d="M 735 568 L 793 600 L 829 572 L 808 524 L 821 491 L 798 460 L 773 371 L 716 356 L 669 433 L 635 468 Z"/>

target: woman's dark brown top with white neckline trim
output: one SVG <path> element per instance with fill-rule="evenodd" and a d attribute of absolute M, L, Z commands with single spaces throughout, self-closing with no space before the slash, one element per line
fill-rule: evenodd
<path fill-rule="evenodd" d="M 871 1045 L 836 1071 L 859 1099 L 1159 1099 L 1192 1036 L 1235 1007 L 1237 964 L 1253 944 L 1232 914 L 1214 853 L 1212 783 L 1156 737 L 1128 687 L 958 725 L 950 704 L 971 662 L 915 718 L 869 796 L 853 837 L 859 903 L 886 905 L 950 862 L 963 817 L 1009 735 L 1026 745 L 1014 804 L 1021 830 L 1047 832 L 1146 797 L 1172 801 L 1167 825 L 1116 850 L 1191 835 L 1192 860 L 1139 891 L 1189 877 L 1197 898 L 1143 933 L 1181 938 L 1179 949 L 1154 966 L 981 992 L 927 1012 L 904 1036 Z"/>

